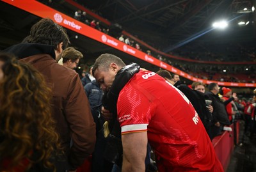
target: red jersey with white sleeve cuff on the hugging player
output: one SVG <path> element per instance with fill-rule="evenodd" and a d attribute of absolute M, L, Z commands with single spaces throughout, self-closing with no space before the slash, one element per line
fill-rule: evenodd
<path fill-rule="evenodd" d="M 135 74 L 117 103 L 122 134 L 147 131 L 159 171 L 223 171 L 188 98 L 150 71 Z"/>

